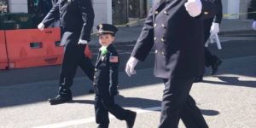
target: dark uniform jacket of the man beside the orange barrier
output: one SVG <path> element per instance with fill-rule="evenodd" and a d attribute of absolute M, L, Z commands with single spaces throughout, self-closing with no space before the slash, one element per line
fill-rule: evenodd
<path fill-rule="evenodd" d="M 78 44 L 79 39 L 90 41 L 94 23 L 94 11 L 90 0 L 59 0 L 45 16 L 44 26 L 60 19 L 61 45 Z"/>

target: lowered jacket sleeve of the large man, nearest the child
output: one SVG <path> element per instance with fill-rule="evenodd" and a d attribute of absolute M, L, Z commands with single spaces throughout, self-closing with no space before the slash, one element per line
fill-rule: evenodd
<path fill-rule="evenodd" d="M 153 15 L 152 8 L 148 11 L 148 16 L 145 20 L 143 30 L 140 37 L 137 39 L 137 44 L 135 45 L 131 56 L 134 56 L 140 61 L 144 61 L 148 56 L 150 49 L 154 45 L 154 26 L 153 26 Z"/>

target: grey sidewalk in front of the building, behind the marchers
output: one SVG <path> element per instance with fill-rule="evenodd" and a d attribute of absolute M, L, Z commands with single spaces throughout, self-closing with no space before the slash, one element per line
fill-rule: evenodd
<path fill-rule="evenodd" d="M 117 43 L 127 43 L 137 41 L 144 21 L 138 21 L 132 24 L 130 27 L 119 27 L 119 32 L 116 34 Z M 252 29 L 253 20 L 223 20 L 220 25 L 220 36 L 237 36 L 245 34 L 253 34 L 256 36 L 256 31 Z M 92 45 L 98 45 L 96 35 L 91 38 Z"/>

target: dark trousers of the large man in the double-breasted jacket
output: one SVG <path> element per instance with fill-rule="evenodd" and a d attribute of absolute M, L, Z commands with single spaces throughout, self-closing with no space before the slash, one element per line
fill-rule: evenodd
<path fill-rule="evenodd" d="M 207 128 L 207 122 L 189 95 L 195 78 L 163 79 L 165 90 L 162 100 L 160 128 L 177 128 L 179 119 L 188 128 Z"/>

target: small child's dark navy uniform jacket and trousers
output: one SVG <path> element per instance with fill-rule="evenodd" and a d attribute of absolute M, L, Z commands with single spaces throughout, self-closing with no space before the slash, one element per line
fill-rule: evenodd
<path fill-rule="evenodd" d="M 114 93 L 118 84 L 119 62 L 109 62 L 111 56 L 119 56 L 113 44 L 108 46 L 108 54 L 102 60 L 101 52 L 96 61 L 96 72 L 94 77 L 95 85 L 95 112 L 96 123 L 100 128 L 108 128 L 108 112 L 117 119 L 124 120 L 128 116 L 128 110 L 119 107 L 114 102 Z M 113 94 L 113 95 L 112 95 Z"/>

